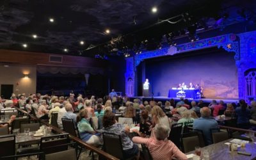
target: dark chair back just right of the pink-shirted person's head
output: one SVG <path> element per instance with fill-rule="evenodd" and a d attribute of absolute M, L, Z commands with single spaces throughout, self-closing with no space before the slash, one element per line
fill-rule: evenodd
<path fill-rule="evenodd" d="M 182 132 L 182 123 L 173 124 L 168 140 L 171 140 L 178 148 L 180 148 L 180 138 Z"/>

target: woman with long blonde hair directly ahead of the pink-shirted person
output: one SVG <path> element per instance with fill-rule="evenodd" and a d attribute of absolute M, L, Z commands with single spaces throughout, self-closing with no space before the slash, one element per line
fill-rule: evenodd
<path fill-rule="evenodd" d="M 165 115 L 163 109 L 161 109 L 159 106 L 154 106 L 152 108 L 152 121 L 153 124 L 163 124 L 170 129 L 170 122 L 168 119 L 168 116 Z"/>

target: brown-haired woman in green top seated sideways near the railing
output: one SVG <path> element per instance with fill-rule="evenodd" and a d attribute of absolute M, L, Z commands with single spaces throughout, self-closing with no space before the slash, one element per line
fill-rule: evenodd
<path fill-rule="evenodd" d="M 82 109 L 79 111 L 79 115 L 77 115 L 77 128 L 80 137 L 83 141 L 90 145 L 101 145 L 100 134 L 93 130 L 88 118 L 89 116 L 87 109 Z"/>

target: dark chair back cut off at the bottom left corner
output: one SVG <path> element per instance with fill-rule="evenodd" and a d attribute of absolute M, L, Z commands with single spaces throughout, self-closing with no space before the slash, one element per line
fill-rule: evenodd
<path fill-rule="evenodd" d="M 0 136 L 0 148 L 0 159 L 4 156 L 15 155 L 15 135 Z"/>

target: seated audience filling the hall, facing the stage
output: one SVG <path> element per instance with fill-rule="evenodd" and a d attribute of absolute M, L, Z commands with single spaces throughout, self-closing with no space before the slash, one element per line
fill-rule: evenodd
<path fill-rule="evenodd" d="M 244 100 L 236 104 L 226 104 L 220 100 L 212 100 L 209 106 L 205 106 L 200 100 L 189 102 L 187 99 L 180 99 L 175 104 L 175 100 L 162 102 L 140 99 L 131 101 L 129 97 L 118 97 L 115 93 L 103 99 L 90 99 L 79 94 L 75 98 L 74 94 L 69 97 L 57 97 L 49 95 L 25 94 L 12 95 L 10 100 L 0 98 L 1 112 L 8 109 L 15 109 L 13 106 L 24 109 L 28 113 L 35 112 L 41 120 L 49 120 L 52 123 L 51 113 L 58 112 L 58 127 L 62 128 L 61 118 L 69 118 L 78 129 L 80 138 L 91 145 L 102 145 L 102 132 L 120 134 L 125 157 L 139 157 L 138 144 L 147 145 L 153 159 L 186 159 L 186 155 L 177 148 L 172 141 L 167 140 L 172 124 L 193 123 L 194 129 L 204 132 L 207 145 L 212 143 L 210 129 L 218 128 L 218 123 L 212 116 L 218 116 L 220 110 L 225 110 L 225 115 L 237 116 L 237 126 L 248 129 L 250 124 L 256 124 L 256 102 L 252 101 L 248 106 Z M 77 111 L 77 113 L 76 113 Z M 133 129 L 137 133 L 134 138 L 129 138 L 130 128 L 127 125 L 119 124 L 116 121 L 115 113 L 122 113 L 125 118 L 132 120 L 140 126 L 140 130 Z M 168 117 L 166 113 L 171 114 Z M 200 118 L 198 118 L 200 113 Z M 90 120 L 97 117 L 98 128 L 91 125 Z M 12 117 L 10 123 L 15 119 Z M 1 127 L 1 125 L 0 125 Z"/>

